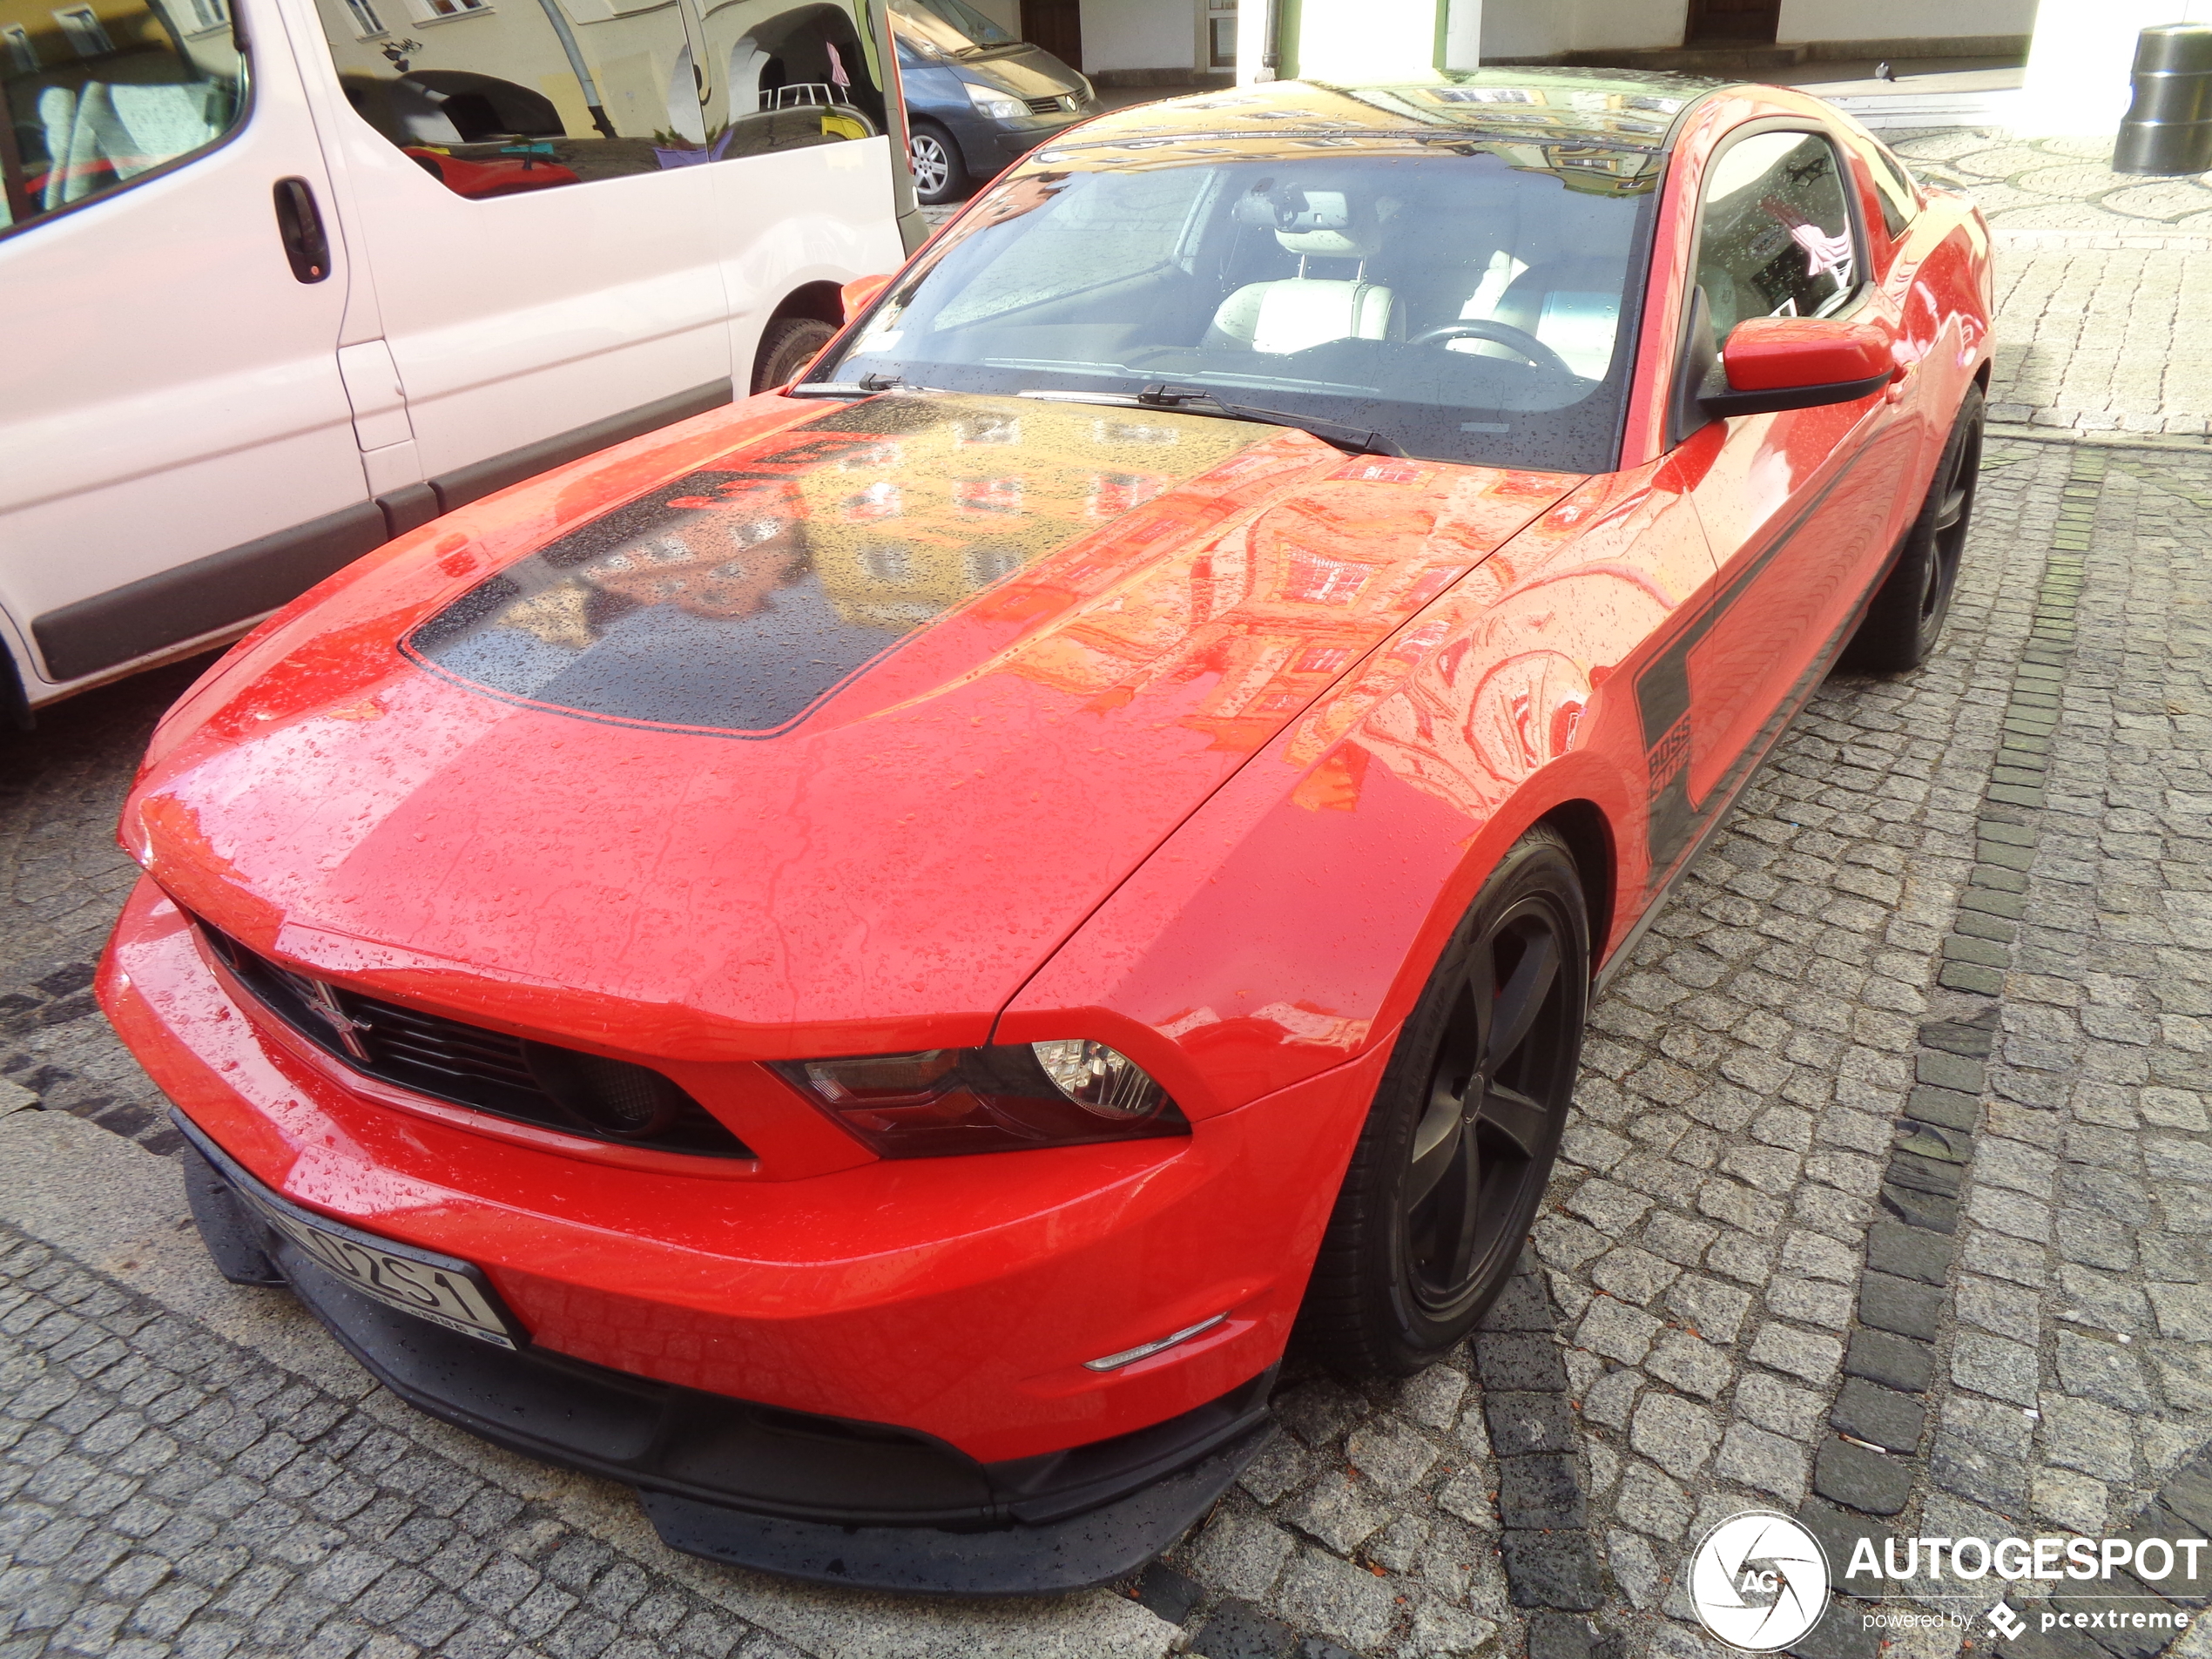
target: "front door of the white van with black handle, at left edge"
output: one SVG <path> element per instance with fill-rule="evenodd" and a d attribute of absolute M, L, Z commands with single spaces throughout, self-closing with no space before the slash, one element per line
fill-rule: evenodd
<path fill-rule="evenodd" d="M 0 608 L 31 703 L 234 633 L 387 540 L 272 4 L 97 0 L 7 35 Z"/>

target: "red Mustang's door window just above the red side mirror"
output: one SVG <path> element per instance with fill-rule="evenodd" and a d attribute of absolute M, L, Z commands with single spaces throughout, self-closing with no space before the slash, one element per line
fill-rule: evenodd
<path fill-rule="evenodd" d="M 1705 173 L 1697 281 L 1712 334 L 1747 316 L 1827 316 L 1858 290 L 1847 181 L 1814 133 L 1756 133 Z"/>

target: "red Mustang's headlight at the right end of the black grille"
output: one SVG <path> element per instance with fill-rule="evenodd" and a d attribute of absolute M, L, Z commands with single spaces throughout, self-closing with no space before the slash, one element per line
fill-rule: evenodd
<path fill-rule="evenodd" d="M 785 1060 L 774 1068 L 883 1157 L 1190 1133 L 1168 1091 L 1104 1042 Z"/>

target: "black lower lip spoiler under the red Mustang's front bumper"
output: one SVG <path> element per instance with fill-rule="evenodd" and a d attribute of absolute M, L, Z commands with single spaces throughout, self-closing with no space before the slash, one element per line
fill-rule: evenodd
<path fill-rule="evenodd" d="M 491 1347 L 356 1292 L 257 1214 L 296 1206 L 173 1117 L 204 1164 L 192 1208 L 226 1272 L 265 1283 L 241 1248 L 259 1252 L 403 1400 L 511 1451 L 637 1486 L 661 1537 L 692 1555 L 878 1590 L 1077 1590 L 1168 1548 L 1259 1447 L 1274 1367 L 1150 1429 L 984 1464 L 880 1422 L 779 1411 L 535 1345 Z"/>

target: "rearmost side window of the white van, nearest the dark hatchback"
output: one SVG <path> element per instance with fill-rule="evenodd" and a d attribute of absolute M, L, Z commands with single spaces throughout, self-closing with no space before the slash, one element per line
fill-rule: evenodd
<path fill-rule="evenodd" d="M 703 0 L 708 150 L 768 150 L 876 137 L 883 69 L 856 9 L 832 0 Z"/>

